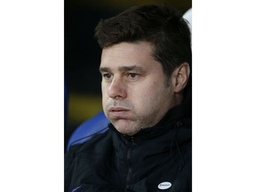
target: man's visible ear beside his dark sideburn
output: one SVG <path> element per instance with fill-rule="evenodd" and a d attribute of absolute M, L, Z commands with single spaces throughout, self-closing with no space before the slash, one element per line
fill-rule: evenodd
<path fill-rule="evenodd" d="M 186 84 L 190 75 L 190 68 L 187 62 L 181 63 L 179 67 L 175 68 L 172 72 L 173 92 L 181 92 Z"/>

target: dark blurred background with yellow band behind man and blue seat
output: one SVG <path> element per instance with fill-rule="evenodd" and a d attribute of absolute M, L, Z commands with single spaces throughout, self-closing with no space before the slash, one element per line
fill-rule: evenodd
<path fill-rule="evenodd" d="M 65 143 L 79 124 L 99 113 L 100 47 L 93 38 L 99 20 L 137 4 L 168 4 L 186 12 L 192 0 L 65 0 Z"/>

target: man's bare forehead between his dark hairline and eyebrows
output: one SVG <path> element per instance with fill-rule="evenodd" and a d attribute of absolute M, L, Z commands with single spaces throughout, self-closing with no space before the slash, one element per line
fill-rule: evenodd
<path fill-rule="evenodd" d="M 156 62 L 152 56 L 152 46 L 148 42 L 120 43 L 103 49 L 100 68 L 148 67 L 148 64 Z"/>

